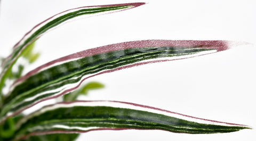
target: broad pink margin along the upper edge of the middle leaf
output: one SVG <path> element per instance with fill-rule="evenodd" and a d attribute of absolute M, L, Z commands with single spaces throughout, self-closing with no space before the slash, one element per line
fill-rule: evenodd
<path fill-rule="evenodd" d="M 229 49 L 228 41 L 225 40 L 137 40 L 132 42 L 123 42 L 117 44 L 111 44 L 101 47 L 96 47 L 92 49 L 86 49 L 85 51 L 77 52 L 74 54 L 61 57 L 57 60 L 45 63 L 40 67 L 37 67 L 34 70 L 28 72 L 25 76 L 19 78 L 14 82 L 14 85 L 26 80 L 28 77 L 33 76 L 35 73 L 43 70 L 44 68 L 49 68 L 51 65 L 56 63 L 65 62 L 68 60 L 79 59 L 86 56 L 92 56 L 95 54 L 106 53 L 111 51 L 117 51 L 119 49 L 127 48 L 142 48 L 142 47 L 164 47 L 164 46 L 173 46 L 173 47 L 202 47 L 209 49 L 216 49 L 217 52 L 225 51 Z"/>

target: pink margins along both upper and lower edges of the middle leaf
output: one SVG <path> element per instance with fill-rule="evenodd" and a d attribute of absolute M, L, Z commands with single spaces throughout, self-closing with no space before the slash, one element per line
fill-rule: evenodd
<path fill-rule="evenodd" d="M 155 47 L 173 46 L 173 47 L 190 47 L 190 48 L 194 48 L 194 47 L 199 48 L 200 47 L 200 48 L 216 49 L 217 52 L 225 51 L 226 49 L 230 48 L 229 42 L 226 40 L 139 40 L 139 41 L 111 44 L 111 45 L 96 47 L 96 48 L 92 48 L 92 49 L 87 49 L 85 51 L 77 52 L 74 54 L 70 54 L 68 56 L 61 57 L 60 59 L 53 60 L 49 63 L 43 64 L 40 67 L 28 72 L 25 76 L 19 78 L 17 81 L 15 81 L 12 88 L 15 87 L 16 85 L 20 84 L 22 81 L 26 80 L 30 76 L 33 76 L 35 73 L 42 71 L 45 68 L 52 67 L 52 66 L 54 66 L 54 64 L 57 64 L 57 63 L 66 62 L 68 60 L 73 60 L 73 59 L 79 59 L 82 57 L 91 56 L 91 55 L 95 55 L 95 54 L 117 51 L 119 49 L 138 48 L 138 47 L 153 47 L 153 46 L 155 46 Z M 207 53 L 207 54 L 211 54 L 211 53 Z M 206 54 L 202 54 L 202 55 L 206 55 Z M 201 55 L 198 55 L 198 56 L 201 56 Z M 192 57 L 195 57 L 195 56 L 192 56 Z M 190 58 L 190 57 L 183 57 L 181 59 L 188 59 L 188 58 Z M 21 113 L 22 111 L 28 109 L 29 107 L 32 107 L 38 103 L 41 103 L 41 102 L 49 100 L 49 99 L 57 98 L 59 96 L 62 96 L 69 92 L 72 92 L 73 90 L 75 90 L 79 86 L 81 86 L 83 81 L 85 81 L 86 79 L 89 79 L 91 77 L 98 76 L 98 75 L 104 74 L 104 73 L 110 73 L 110 72 L 114 72 L 114 71 L 118 71 L 118 70 L 137 67 L 139 65 L 173 61 L 173 60 L 181 60 L 181 59 L 162 59 L 162 60 L 138 62 L 138 63 L 129 64 L 129 65 L 115 68 L 115 69 L 105 70 L 105 71 L 102 71 L 99 73 L 92 74 L 91 76 L 83 78 L 81 81 L 79 81 L 78 85 L 76 85 L 72 88 L 66 89 L 65 91 L 63 91 L 62 93 L 60 93 L 58 95 L 40 99 L 39 101 L 37 101 L 35 103 L 31 103 L 31 105 L 29 105 L 27 107 L 23 107 L 22 109 L 20 109 L 18 111 L 15 111 L 9 115 L 6 115 L 6 117 L 3 117 L 3 119 L 1 119 L 0 123 L 5 121 L 7 118 L 13 117 L 13 116 Z"/>

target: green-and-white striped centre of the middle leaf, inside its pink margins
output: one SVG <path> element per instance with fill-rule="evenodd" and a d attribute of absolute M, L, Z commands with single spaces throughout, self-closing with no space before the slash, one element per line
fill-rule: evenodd
<path fill-rule="evenodd" d="M 89 74 L 115 69 L 143 60 L 186 56 L 211 50 L 213 49 L 168 46 L 127 48 L 86 56 L 82 59 L 56 65 L 34 74 L 34 76 L 16 86 L 11 94 L 5 98 L 5 106 L 1 115 L 25 108 L 43 98 L 61 94 L 64 90 L 77 86 L 84 76 Z"/>

